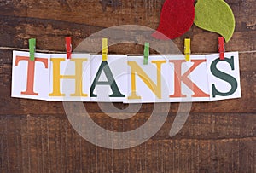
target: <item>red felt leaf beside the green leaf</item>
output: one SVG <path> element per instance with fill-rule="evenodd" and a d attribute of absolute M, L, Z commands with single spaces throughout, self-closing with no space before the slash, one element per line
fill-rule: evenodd
<path fill-rule="evenodd" d="M 188 32 L 195 19 L 194 0 L 166 0 L 160 16 L 157 39 L 174 39 Z"/>

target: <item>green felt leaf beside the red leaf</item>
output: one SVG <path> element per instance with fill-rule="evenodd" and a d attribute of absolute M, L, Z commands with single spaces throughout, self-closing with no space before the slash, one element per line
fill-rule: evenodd
<path fill-rule="evenodd" d="M 235 31 L 235 17 L 224 0 L 198 0 L 195 4 L 195 25 L 222 35 L 229 42 Z"/>

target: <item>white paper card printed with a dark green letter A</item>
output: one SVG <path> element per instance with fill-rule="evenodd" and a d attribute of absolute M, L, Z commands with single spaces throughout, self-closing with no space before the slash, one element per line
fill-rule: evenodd
<path fill-rule="evenodd" d="M 90 74 L 90 101 L 126 100 L 127 55 L 108 55 L 108 61 L 102 61 L 102 55 L 91 55 Z"/>

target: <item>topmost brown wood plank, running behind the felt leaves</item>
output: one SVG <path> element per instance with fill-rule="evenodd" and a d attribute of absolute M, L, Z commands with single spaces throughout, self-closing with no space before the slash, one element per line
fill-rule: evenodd
<path fill-rule="evenodd" d="M 253 29 L 254 1 L 227 0 L 236 16 L 236 22 Z M 1 15 L 62 20 L 91 26 L 140 24 L 155 28 L 160 20 L 164 0 L 87 0 L 84 1 L 34 1 L 2 2 Z M 47 13 L 46 13 L 47 12 Z M 102 22 L 104 21 L 104 22 Z"/>

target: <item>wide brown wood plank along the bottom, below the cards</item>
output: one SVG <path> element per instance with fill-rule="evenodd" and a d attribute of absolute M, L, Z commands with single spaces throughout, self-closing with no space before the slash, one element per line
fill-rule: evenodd
<path fill-rule="evenodd" d="M 109 124 L 103 114 L 91 116 L 104 125 Z M 127 150 L 108 150 L 82 139 L 63 115 L 2 115 L 0 123 L 12 127 L 4 130 L 4 125 L 1 126 L 0 137 L 4 139 L 0 141 L 1 153 L 4 153 L 1 169 L 2 172 L 253 172 L 256 154 L 254 117 L 255 114 L 247 113 L 195 113 L 183 130 L 171 138 L 167 136 L 174 118 L 170 114 L 162 130 L 143 145 Z M 143 114 L 133 122 L 136 124 L 139 119 L 143 119 Z M 57 133 L 61 133 L 63 139 L 56 138 Z M 20 148 L 17 142 L 21 144 Z M 19 159 L 20 153 L 22 159 Z"/>

